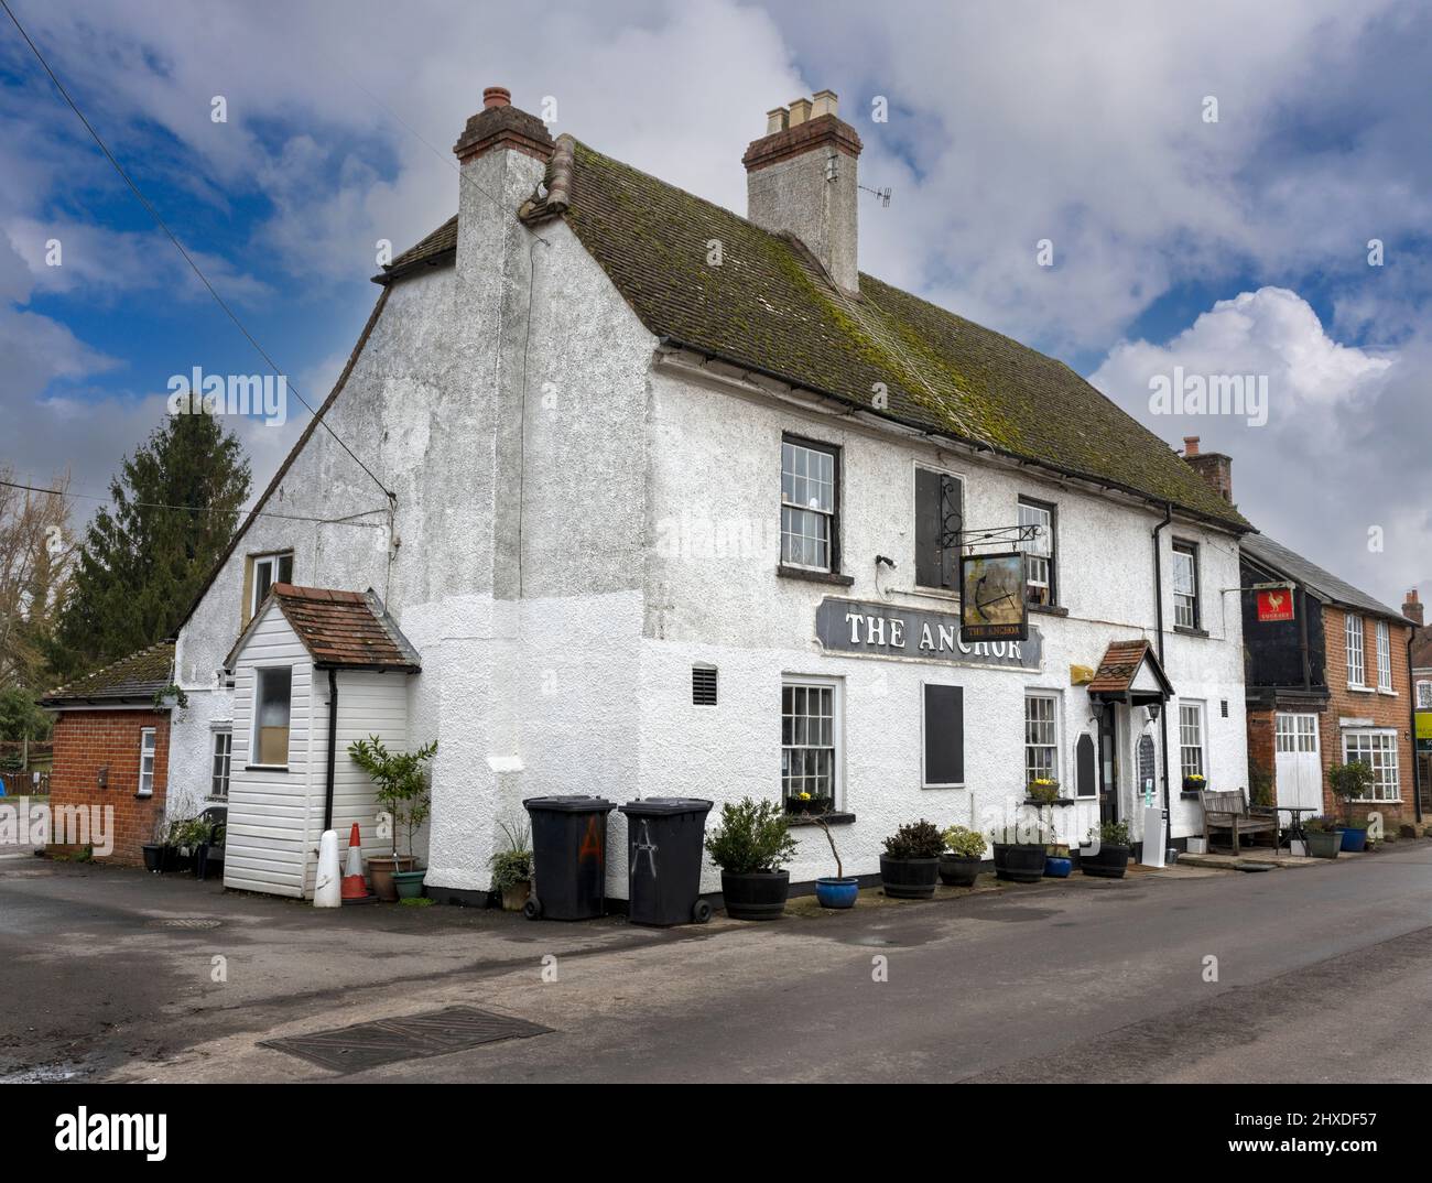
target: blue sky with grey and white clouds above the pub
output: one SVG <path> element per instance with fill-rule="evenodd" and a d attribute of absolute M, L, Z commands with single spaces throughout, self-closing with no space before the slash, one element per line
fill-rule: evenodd
<path fill-rule="evenodd" d="M 737 212 L 763 112 L 831 87 L 862 182 L 895 192 L 862 206 L 863 269 L 1229 451 L 1244 513 L 1315 561 L 1432 594 L 1423 4 L 11 3 L 311 402 L 377 296 L 377 242 L 454 211 L 483 86 L 551 96 L 554 130 Z M 263 367 L 7 21 L 0 119 L 0 464 L 100 493 L 170 375 Z M 1267 424 L 1153 414 L 1176 365 L 1266 375 Z M 243 425 L 256 484 L 304 417 Z"/>

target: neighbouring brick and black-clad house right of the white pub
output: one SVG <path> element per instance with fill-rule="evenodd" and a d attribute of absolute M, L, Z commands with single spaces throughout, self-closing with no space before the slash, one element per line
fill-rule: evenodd
<path fill-rule="evenodd" d="M 1413 622 L 1266 536 L 1240 541 L 1243 589 L 1286 581 L 1293 619 L 1260 622 L 1257 593 L 1243 590 L 1250 768 L 1273 778 L 1279 805 L 1342 815 L 1327 788 L 1333 763 L 1378 769 L 1370 811 L 1396 834 L 1422 822 L 1412 750 Z"/>

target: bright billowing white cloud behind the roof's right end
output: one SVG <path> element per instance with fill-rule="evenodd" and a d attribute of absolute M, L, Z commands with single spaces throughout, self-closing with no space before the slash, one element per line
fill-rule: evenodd
<path fill-rule="evenodd" d="M 1120 342 L 1090 381 L 1173 445 L 1199 435 L 1203 451 L 1232 455 L 1234 498 L 1259 530 L 1396 607 L 1432 576 L 1429 361 L 1423 338 L 1376 354 L 1340 344 L 1295 292 L 1262 288 L 1219 301 L 1167 344 Z M 1150 380 L 1174 367 L 1266 377 L 1267 424 L 1151 414 Z"/>

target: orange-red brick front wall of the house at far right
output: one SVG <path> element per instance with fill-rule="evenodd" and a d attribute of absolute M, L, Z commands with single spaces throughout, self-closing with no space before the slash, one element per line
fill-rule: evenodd
<path fill-rule="evenodd" d="M 1378 686 L 1378 622 L 1369 616 L 1362 619 L 1363 637 L 1363 680 L 1370 690 L 1348 689 L 1348 642 L 1345 637 L 1346 613 L 1332 604 L 1323 609 L 1323 627 L 1327 637 L 1327 689 L 1332 699 L 1327 712 L 1322 716 L 1322 746 L 1323 773 L 1335 763 L 1342 763 L 1342 732 L 1339 720 L 1372 719 L 1375 728 L 1396 728 L 1398 732 L 1398 778 L 1402 785 L 1402 803 L 1373 802 L 1355 805 L 1353 818 L 1366 816 L 1369 809 L 1382 812 L 1383 825 L 1393 834 L 1402 819 L 1412 821 L 1415 816 L 1412 805 L 1412 720 L 1409 715 L 1409 696 L 1412 693 L 1412 679 L 1408 670 L 1408 633 L 1409 624 L 1389 622 L 1389 639 L 1392 642 L 1392 689 L 1395 695 L 1379 693 Z M 1342 802 L 1335 801 L 1323 782 L 1323 805 L 1329 813 L 1342 815 Z"/>

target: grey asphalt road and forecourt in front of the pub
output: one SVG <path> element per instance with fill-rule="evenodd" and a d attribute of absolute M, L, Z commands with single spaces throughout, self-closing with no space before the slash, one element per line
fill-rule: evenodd
<path fill-rule="evenodd" d="M 1432 1080 L 1432 842 L 806 911 L 332 914 L 0 861 L 0 1078 Z M 258 1046 L 447 1005 L 551 1033 L 344 1076 Z"/>

